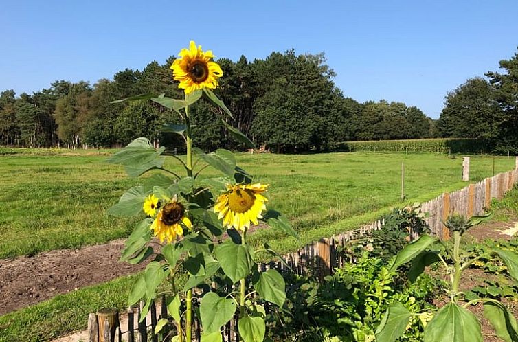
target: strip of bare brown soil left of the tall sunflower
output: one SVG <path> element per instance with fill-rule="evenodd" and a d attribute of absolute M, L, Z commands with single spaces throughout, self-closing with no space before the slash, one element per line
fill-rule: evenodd
<path fill-rule="evenodd" d="M 0 315 L 144 269 L 118 262 L 123 247 L 124 240 L 114 240 L 0 260 Z"/>

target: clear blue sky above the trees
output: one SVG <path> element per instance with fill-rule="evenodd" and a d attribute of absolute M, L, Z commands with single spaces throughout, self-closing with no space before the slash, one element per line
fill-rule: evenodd
<path fill-rule="evenodd" d="M 194 39 L 232 60 L 325 52 L 346 96 L 436 118 L 448 91 L 517 52 L 517 14 L 517 0 L 3 1 L 0 91 L 93 84 Z"/>

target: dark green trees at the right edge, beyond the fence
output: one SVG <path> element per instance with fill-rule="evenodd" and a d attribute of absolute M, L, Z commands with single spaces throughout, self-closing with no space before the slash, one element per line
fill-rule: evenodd
<path fill-rule="evenodd" d="M 494 153 L 518 155 L 518 53 L 499 65 L 504 72 L 488 71 L 447 94 L 437 128 L 442 137 L 479 138 Z"/>

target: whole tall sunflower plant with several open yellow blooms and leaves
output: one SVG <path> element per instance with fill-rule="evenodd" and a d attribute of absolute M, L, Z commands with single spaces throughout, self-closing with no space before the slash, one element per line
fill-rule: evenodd
<path fill-rule="evenodd" d="M 157 97 L 145 94 L 117 101 L 150 99 L 177 113 L 181 124 L 166 124 L 162 130 L 179 135 L 187 151 L 184 160 L 168 155 L 164 147 L 155 148 L 141 137 L 109 159 L 124 166 L 131 177 L 153 172 L 143 185 L 131 187 L 119 203 L 108 210 L 116 216 L 142 216 L 143 212 L 147 216 L 137 223 L 122 251 L 121 260 L 131 264 L 153 258 L 133 284 L 128 304 L 144 300 L 142 321 L 153 301 L 165 296 L 168 313 L 177 325 L 174 337 L 171 333 L 167 337 L 174 342 L 190 342 L 193 289 L 199 288 L 202 341 L 222 341 L 222 327 L 236 313 L 240 339 L 263 341 L 265 310 L 258 300 L 282 307 L 286 298 L 285 284 L 274 269 L 258 271 L 254 258 L 257 251 L 247 244 L 247 231 L 261 221 L 296 239 L 298 236 L 280 212 L 266 211 L 268 185 L 252 183 L 253 177 L 237 166 L 232 152 L 218 149 L 207 154 L 195 147 L 192 104 L 203 97 L 216 105 L 222 115 L 232 117 L 232 113 L 212 92 L 218 84 L 216 78 L 222 74 L 220 67 L 210 61 L 212 52 L 203 52 L 191 41 L 190 49 L 183 49 L 180 56 L 173 62 L 172 69 L 174 78 L 181 82 L 179 87 L 185 89 L 184 100 L 166 98 L 164 94 Z M 253 146 L 243 133 L 229 126 L 224 117 L 221 123 L 234 139 Z M 166 168 L 166 157 L 177 161 L 185 175 Z M 221 172 L 221 176 L 200 180 L 199 175 L 207 167 Z M 223 238 L 223 233 L 229 238 Z M 155 243 L 153 235 L 161 244 L 159 251 L 151 247 Z M 262 251 L 278 256 L 267 246 Z M 180 286 L 177 279 L 182 275 L 187 276 L 187 281 Z M 254 290 L 247 291 L 249 288 Z M 166 317 L 161 318 L 154 333 L 160 334 L 171 323 Z"/>

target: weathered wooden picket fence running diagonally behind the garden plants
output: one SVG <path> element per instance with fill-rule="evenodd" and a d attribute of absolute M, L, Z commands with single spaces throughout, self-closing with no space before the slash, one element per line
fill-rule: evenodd
<path fill-rule="evenodd" d="M 456 212 L 468 217 L 480 215 L 484 212 L 484 208 L 489 207 L 493 198 L 501 199 L 508 190 L 518 183 L 518 157 L 516 161 L 517 168 L 515 170 L 486 178 L 455 192 L 444 192 L 444 194 L 433 198 L 431 201 L 421 203 L 422 211 L 429 214 L 425 220 L 432 234 L 442 240 L 449 239 L 449 230 L 443 224 L 449 214 Z M 304 275 L 311 270 L 311 272 L 320 277 L 330 275 L 333 273 L 333 269 L 342 266 L 344 262 L 348 261 L 341 258 L 340 253 L 338 253 L 341 247 L 345 247 L 350 241 L 370 235 L 372 231 L 382 229 L 383 225 L 384 222 L 382 220 L 377 220 L 355 231 L 346 231 L 331 238 L 322 238 L 312 244 L 307 244 L 298 251 L 284 255 L 287 265 L 281 262 L 267 262 L 260 264 L 260 271 L 273 268 L 281 273 L 289 271 L 297 275 Z M 141 303 L 140 306 L 128 308 L 126 315 L 120 315 L 116 310 L 109 309 L 102 309 L 97 314 L 90 314 L 89 341 L 166 341 L 167 331 L 158 335 L 152 333 L 155 330 L 157 321 L 161 317 L 168 317 L 164 301 L 157 301 L 157 303 L 151 305 L 148 317 L 144 321 L 138 322 L 142 306 L 143 304 Z M 195 297 L 193 301 L 193 326 L 195 331 L 193 339 L 196 342 L 201 341 L 201 323 L 199 318 L 196 317 L 196 308 L 198 306 L 199 301 Z M 266 310 L 269 310 L 268 306 L 266 306 Z M 124 327 L 120 323 L 122 321 L 121 317 L 127 317 Z M 224 342 L 238 341 L 236 334 L 237 319 L 237 317 L 234 317 L 225 326 L 222 332 Z M 170 341 L 170 339 L 167 339 L 167 341 Z"/>

